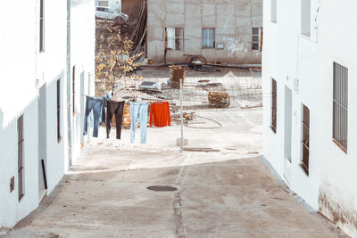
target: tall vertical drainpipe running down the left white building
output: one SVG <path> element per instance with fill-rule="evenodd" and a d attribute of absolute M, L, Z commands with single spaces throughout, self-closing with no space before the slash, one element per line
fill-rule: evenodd
<path fill-rule="evenodd" d="M 72 165 L 71 144 L 71 0 L 67 0 L 67 123 L 68 123 L 68 160 Z"/>

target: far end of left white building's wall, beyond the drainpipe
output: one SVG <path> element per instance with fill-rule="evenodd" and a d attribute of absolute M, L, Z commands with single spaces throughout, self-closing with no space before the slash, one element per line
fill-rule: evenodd
<path fill-rule="evenodd" d="M 71 69 L 76 66 L 75 115 L 72 123 L 72 162 L 79 156 L 83 136 L 86 95 L 94 95 L 95 75 L 95 2 L 72 1 L 71 5 Z M 71 71 L 72 73 L 72 71 Z M 73 76 L 72 76 L 73 77 Z M 72 79 L 71 79 L 72 80 Z M 72 82 L 72 81 L 71 81 Z M 71 86 L 71 93 L 72 93 Z M 72 104 L 72 103 L 71 103 Z M 73 111 L 73 105 L 71 105 Z"/>

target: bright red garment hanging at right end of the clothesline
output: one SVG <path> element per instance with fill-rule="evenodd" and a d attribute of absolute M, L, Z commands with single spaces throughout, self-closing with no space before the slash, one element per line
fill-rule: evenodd
<path fill-rule="evenodd" d="M 150 127 L 171 126 L 170 104 L 168 102 L 151 103 Z"/>

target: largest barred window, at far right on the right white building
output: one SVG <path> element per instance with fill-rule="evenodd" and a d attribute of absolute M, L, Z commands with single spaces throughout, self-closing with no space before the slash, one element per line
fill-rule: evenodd
<path fill-rule="evenodd" d="M 347 152 L 348 69 L 334 62 L 333 140 Z"/>

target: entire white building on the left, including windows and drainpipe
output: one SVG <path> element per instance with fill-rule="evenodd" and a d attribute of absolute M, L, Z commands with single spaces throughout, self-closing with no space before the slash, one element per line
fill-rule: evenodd
<path fill-rule="evenodd" d="M 21 2 L 16 18 L 0 16 L 0 228 L 36 209 L 78 157 L 94 94 L 95 1 Z"/>

